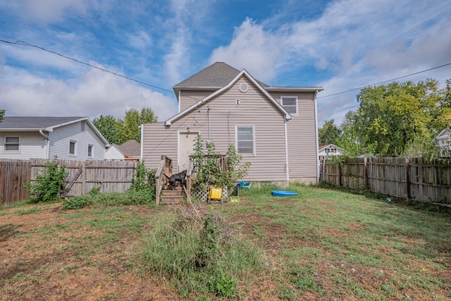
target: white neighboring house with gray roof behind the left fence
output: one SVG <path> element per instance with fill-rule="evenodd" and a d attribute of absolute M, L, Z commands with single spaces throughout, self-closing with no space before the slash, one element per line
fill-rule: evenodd
<path fill-rule="evenodd" d="M 108 141 L 87 117 L 4 117 L 0 159 L 104 160 Z"/>

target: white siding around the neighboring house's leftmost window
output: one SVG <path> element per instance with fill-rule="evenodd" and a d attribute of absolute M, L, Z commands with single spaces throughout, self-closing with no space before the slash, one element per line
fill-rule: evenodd
<path fill-rule="evenodd" d="M 6 137 L 20 137 L 19 151 L 5 151 L 4 143 Z M 0 159 L 31 159 L 47 156 L 47 143 L 38 132 L 11 132 L 0 133 Z"/>

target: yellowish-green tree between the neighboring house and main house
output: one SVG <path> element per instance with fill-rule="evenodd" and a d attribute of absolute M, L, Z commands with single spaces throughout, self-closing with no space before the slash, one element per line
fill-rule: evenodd
<path fill-rule="evenodd" d="M 144 123 L 155 123 L 157 117 L 150 108 L 142 108 L 141 111 L 130 109 L 125 111 L 123 121 L 118 122 L 118 144 L 123 144 L 128 140 L 141 141 L 140 125 Z"/>

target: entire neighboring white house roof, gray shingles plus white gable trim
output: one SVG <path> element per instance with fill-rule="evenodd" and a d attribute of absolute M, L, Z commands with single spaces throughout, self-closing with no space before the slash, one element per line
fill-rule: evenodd
<path fill-rule="evenodd" d="M 101 135 L 87 117 L 35 117 L 35 116 L 20 116 L 20 117 L 4 117 L 0 120 L 0 131 L 46 131 L 53 132 L 54 128 L 58 128 L 70 123 L 76 123 L 79 121 L 86 121 L 87 124 L 94 130 L 94 132 L 101 138 L 104 145 L 108 146 L 109 143 L 105 137 Z"/>

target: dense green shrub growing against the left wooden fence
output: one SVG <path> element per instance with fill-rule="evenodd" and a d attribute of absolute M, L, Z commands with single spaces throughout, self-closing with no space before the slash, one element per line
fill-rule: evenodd
<path fill-rule="evenodd" d="M 46 164 L 46 168 L 38 171 L 36 182 L 25 184 L 32 202 L 58 202 L 66 187 L 68 172 L 66 166 L 58 166 L 56 161 Z"/>

